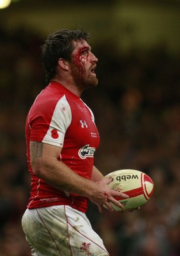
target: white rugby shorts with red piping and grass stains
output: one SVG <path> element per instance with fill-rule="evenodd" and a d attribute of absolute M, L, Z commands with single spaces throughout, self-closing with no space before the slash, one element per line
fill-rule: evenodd
<path fill-rule="evenodd" d="M 84 212 L 68 205 L 27 209 L 22 228 L 33 256 L 107 256 Z"/>

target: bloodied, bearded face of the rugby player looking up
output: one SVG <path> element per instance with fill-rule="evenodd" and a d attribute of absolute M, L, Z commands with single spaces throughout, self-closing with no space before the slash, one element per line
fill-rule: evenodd
<path fill-rule="evenodd" d="M 94 73 L 98 59 L 91 52 L 91 47 L 85 40 L 74 42 L 75 49 L 72 52 L 71 74 L 77 86 L 86 89 L 98 84 Z"/>

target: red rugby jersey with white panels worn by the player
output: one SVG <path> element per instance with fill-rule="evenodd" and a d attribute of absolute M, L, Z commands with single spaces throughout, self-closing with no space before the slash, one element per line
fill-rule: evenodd
<path fill-rule="evenodd" d="M 91 179 L 94 152 L 100 143 L 91 109 L 62 84 L 52 82 L 36 97 L 26 120 L 27 163 L 31 173 L 31 196 L 27 208 L 65 204 L 86 212 L 86 197 L 53 188 L 33 174 L 29 141 L 62 147 L 59 161 L 73 172 Z"/>

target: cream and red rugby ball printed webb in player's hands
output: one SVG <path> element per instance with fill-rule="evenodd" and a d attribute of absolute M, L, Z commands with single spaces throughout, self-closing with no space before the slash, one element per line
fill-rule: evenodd
<path fill-rule="evenodd" d="M 138 170 L 124 169 L 117 170 L 105 176 L 105 179 L 112 177 L 113 180 L 108 185 L 115 191 L 121 191 L 129 196 L 128 199 L 115 196 L 124 209 L 112 204 L 115 211 L 131 211 L 140 207 L 151 198 L 154 191 L 153 180 L 144 172 Z"/>

